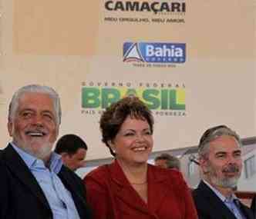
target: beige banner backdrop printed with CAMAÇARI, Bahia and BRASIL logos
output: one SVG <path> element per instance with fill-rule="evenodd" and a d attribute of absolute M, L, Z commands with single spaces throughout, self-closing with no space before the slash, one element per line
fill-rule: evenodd
<path fill-rule="evenodd" d="M 2 148 L 8 102 L 31 83 L 59 92 L 60 136 L 79 134 L 88 159 L 109 157 L 99 116 L 128 94 L 153 111 L 154 151 L 216 124 L 255 135 L 255 1 L 0 2 Z"/>

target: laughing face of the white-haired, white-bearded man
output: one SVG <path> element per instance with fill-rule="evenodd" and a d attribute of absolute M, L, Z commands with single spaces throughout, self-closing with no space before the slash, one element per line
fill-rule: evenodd
<path fill-rule="evenodd" d="M 36 158 L 48 161 L 59 133 L 52 98 L 41 93 L 25 93 L 19 99 L 8 132 L 15 145 Z"/>

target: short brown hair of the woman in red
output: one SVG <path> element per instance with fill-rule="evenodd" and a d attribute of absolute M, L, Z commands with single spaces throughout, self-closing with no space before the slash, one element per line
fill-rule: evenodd
<path fill-rule="evenodd" d="M 109 148 L 113 156 L 116 154 L 109 147 L 108 141 L 113 141 L 118 131 L 120 131 L 123 121 L 125 121 L 128 116 L 146 120 L 153 134 L 153 115 L 147 105 L 133 95 L 120 99 L 120 101 L 106 108 L 106 111 L 103 112 L 99 121 L 102 141 Z"/>

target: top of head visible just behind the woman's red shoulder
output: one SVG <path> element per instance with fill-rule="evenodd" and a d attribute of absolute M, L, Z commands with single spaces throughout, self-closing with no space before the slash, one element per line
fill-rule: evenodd
<path fill-rule="evenodd" d="M 155 159 L 155 165 L 160 168 L 175 168 L 180 171 L 180 160 L 170 154 L 160 154 Z"/>

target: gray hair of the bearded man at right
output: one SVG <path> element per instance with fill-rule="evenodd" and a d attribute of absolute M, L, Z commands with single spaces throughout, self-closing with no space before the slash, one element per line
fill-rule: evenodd
<path fill-rule="evenodd" d="M 224 135 L 234 137 L 239 147 L 241 147 L 241 138 L 235 131 L 231 130 L 231 128 L 228 128 L 226 125 L 218 125 L 213 128 L 208 128 L 207 131 L 205 131 L 202 137 L 200 138 L 200 142 L 198 145 L 199 158 L 204 157 L 208 153 L 210 146 L 209 143 L 211 141 L 214 141 L 216 138 L 219 138 Z"/>

